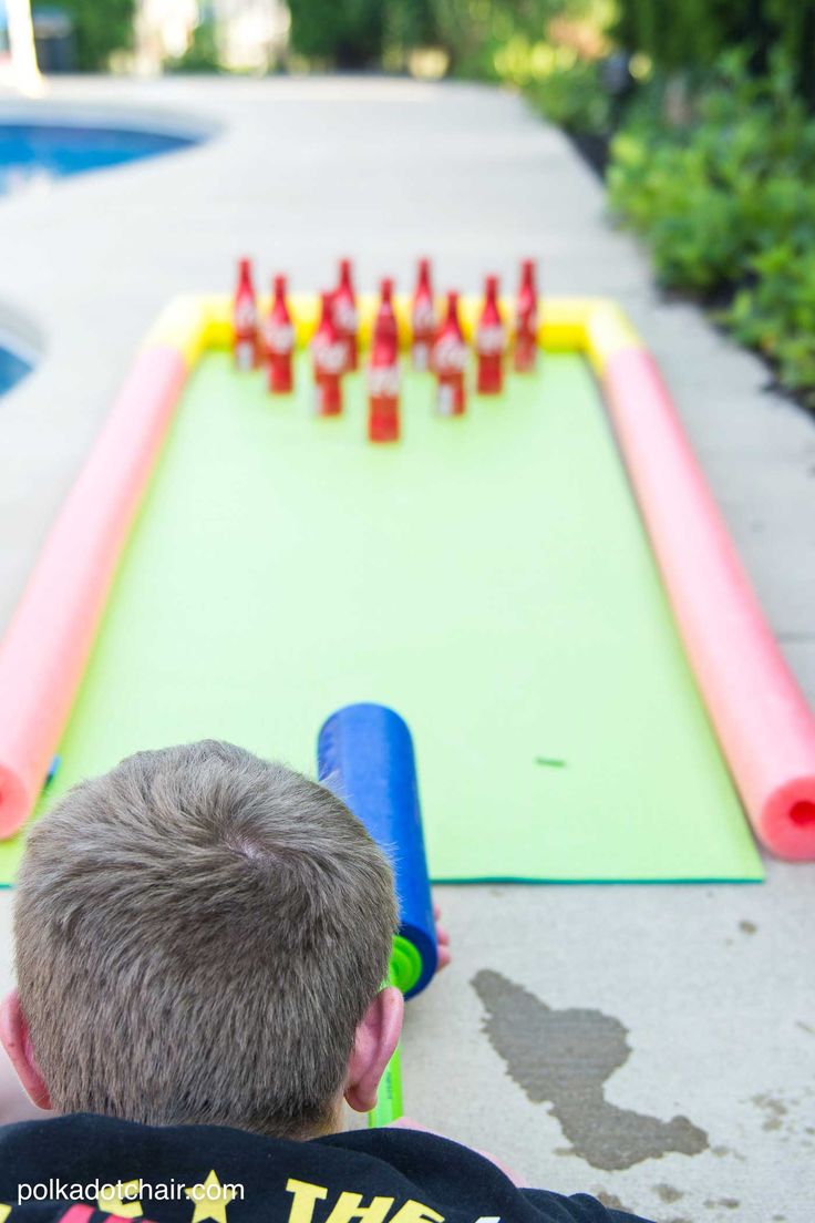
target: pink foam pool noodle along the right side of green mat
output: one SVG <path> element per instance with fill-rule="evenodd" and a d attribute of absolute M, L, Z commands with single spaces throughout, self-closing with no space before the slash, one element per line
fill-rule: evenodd
<path fill-rule="evenodd" d="M 685 651 L 759 839 L 815 859 L 815 715 L 764 619 L 650 356 L 602 372 L 617 439 Z"/>

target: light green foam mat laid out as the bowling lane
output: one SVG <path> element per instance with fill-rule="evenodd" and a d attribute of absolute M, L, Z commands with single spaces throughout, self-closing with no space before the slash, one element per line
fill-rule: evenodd
<path fill-rule="evenodd" d="M 761 878 L 584 361 L 463 418 L 406 371 L 390 446 L 363 377 L 320 419 L 304 360 L 287 399 L 193 372 L 45 801 L 205 736 L 313 774 L 323 719 L 380 701 L 437 881 Z"/>

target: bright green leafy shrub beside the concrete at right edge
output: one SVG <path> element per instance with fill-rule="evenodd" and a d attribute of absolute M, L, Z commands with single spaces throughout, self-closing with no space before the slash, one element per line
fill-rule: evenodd
<path fill-rule="evenodd" d="M 685 124 L 663 115 L 640 102 L 612 141 L 612 212 L 646 238 L 661 284 L 717 303 L 815 405 L 815 119 L 789 66 L 755 78 L 731 54 Z"/>

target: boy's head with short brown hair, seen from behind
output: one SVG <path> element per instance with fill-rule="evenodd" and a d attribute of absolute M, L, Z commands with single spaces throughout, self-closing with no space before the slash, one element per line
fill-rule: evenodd
<path fill-rule="evenodd" d="M 305 1136 L 373 1107 L 390 868 L 327 790 L 230 744 L 139 752 L 32 830 L 6 1047 L 35 1103 Z"/>

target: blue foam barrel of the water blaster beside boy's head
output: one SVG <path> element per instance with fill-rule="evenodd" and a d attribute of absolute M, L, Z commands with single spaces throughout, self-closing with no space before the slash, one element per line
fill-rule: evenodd
<path fill-rule="evenodd" d="M 347 704 L 324 722 L 316 745 L 320 781 L 363 822 L 393 867 L 400 934 L 422 956 L 412 998 L 436 971 L 436 928 L 422 834 L 413 740 L 384 704 Z"/>

